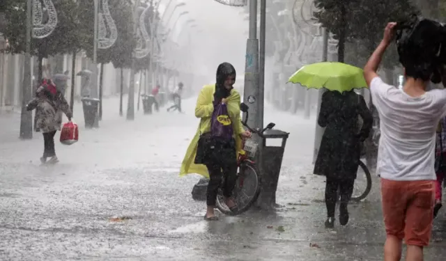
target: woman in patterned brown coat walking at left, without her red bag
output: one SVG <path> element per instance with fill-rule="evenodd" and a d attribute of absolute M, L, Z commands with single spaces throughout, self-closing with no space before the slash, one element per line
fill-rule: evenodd
<path fill-rule="evenodd" d="M 56 164 L 59 162 L 54 149 L 54 135 L 61 130 L 62 113 L 71 120 L 70 105 L 63 94 L 56 89 L 54 83 L 44 79 L 36 91 L 36 97 L 26 105 L 27 111 L 36 110 L 36 125 L 43 132 L 44 150 L 40 158 L 42 164 Z M 50 158 L 47 161 L 47 158 Z"/>

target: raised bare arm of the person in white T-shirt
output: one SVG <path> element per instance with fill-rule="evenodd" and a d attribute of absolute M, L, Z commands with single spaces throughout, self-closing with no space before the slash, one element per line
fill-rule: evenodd
<path fill-rule="evenodd" d="M 364 78 L 367 82 L 367 86 L 370 86 L 372 79 L 378 77 L 378 74 L 376 72 L 378 71 L 378 67 L 381 63 L 381 60 L 383 59 L 385 50 L 394 38 L 394 27 L 396 25 L 397 23 L 391 22 L 388 23 L 387 26 L 385 26 L 383 40 L 381 40 L 378 47 L 376 47 L 375 52 L 371 54 L 369 61 L 367 61 L 366 65 L 364 66 Z"/>

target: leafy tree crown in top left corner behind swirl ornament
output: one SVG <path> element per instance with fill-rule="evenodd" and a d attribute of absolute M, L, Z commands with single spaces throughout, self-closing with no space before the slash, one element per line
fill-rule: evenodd
<path fill-rule="evenodd" d="M 4 1 L 4 0 L 3 0 Z M 31 40 L 31 54 L 48 57 L 68 54 L 80 49 L 84 40 L 78 33 L 77 3 L 72 0 L 54 1 L 58 23 L 56 29 L 44 39 Z M 6 29 L 3 34 L 9 41 L 8 52 L 21 54 L 26 46 L 26 0 L 6 0 Z"/>

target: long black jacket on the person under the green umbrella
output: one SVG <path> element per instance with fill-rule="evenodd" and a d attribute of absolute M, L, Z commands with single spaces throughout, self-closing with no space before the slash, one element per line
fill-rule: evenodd
<path fill-rule="evenodd" d="M 362 118 L 362 127 L 359 118 Z M 328 91 L 322 96 L 318 124 L 326 127 L 314 166 L 314 174 L 355 179 L 360 143 L 367 139 L 373 118 L 364 97 L 350 91 Z"/>

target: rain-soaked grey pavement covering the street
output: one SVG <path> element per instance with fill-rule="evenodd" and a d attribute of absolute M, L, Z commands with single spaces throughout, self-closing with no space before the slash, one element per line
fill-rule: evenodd
<path fill-rule="evenodd" d="M 108 102 L 100 129 L 79 122 L 78 143 L 56 144 L 56 166 L 39 166 L 41 134 L 2 136 L 0 260 L 383 260 L 376 177 L 367 200 L 351 205 L 348 226 L 323 227 L 325 183 L 311 164 L 314 118 L 266 112 L 265 122 L 291 132 L 277 191 L 283 207 L 208 223 L 205 203 L 190 194 L 199 177 L 178 177 L 197 129 L 194 100 L 184 102 L 185 114 L 139 111 L 134 122 L 118 116 L 117 103 L 112 110 L 117 100 Z M 17 117 L 8 120 L 17 126 Z M 445 239 L 442 212 L 425 260 L 444 259 Z"/>

